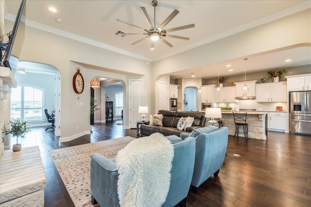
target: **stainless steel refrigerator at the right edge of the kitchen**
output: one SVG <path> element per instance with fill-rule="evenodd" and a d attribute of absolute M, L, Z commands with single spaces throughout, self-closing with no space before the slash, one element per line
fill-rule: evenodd
<path fill-rule="evenodd" d="M 290 131 L 311 135 L 311 91 L 290 92 Z"/>

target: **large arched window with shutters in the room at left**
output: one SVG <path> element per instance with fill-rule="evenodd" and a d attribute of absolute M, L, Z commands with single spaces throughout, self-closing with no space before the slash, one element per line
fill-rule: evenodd
<path fill-rule="evenodd" d="M 31 85 L 19 85 L 12 88 L 10 99 L 10 117 L 23 121 L 44 121 L 43 89 Z"/>

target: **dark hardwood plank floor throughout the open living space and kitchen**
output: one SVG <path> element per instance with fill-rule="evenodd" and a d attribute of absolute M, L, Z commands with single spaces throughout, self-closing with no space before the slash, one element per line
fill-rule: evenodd
<path fill-rule="evenodd" d="M 52 131 L 32 128 L 22 146 L 38 145 L 45 168 L 45 207 L 74 207 L 49 150 L 124 136 L 136 137 L 136 129 L 123 129 L 118 121 L 92 126 L 93 133 L 59 143 Z M 311 137 L 268 132 L 265 141 L 229 136 L 223 167 L 197 193 L 189 192 L 188 207 L 310 207 Z"/>

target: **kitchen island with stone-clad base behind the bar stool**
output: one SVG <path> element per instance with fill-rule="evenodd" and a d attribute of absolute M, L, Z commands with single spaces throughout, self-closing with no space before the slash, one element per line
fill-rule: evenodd
<path fill-rule="evenodd" d="M 240 111 L 245 113 L 246 111 Z M 239 112 L 237 112 L 239 113 Z M 235 123 L 233 119 L 232 111 L 222 111 L 222 118 L 224 127 L 228 127 L 229 135 L 234 135 Z M 247 123 L 248 123 L 248 138 L 265 140 L 267 139 L 268 129 L 268 114 L 264 111 L 247 111 Z M 242 127 L 240 127 L 240 131 Z M 239 133 L 239 137 L 244 137 L 243 133 Z"/>

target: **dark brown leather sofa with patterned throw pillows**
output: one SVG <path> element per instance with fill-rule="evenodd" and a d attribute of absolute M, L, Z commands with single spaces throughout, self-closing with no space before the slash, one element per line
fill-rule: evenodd
<path fill-rule="evenodd" d="M 140 125 L 140 134 L 143 136 L 149 136 L 153 133 L 161 133 L 164 136 L 177 135 L 180 133 L 190 133 L 196 128 L 201 128 L 205 126 L 206 118 L 205 115 L 199 111 L 167 111 L 159 110 L 157 114 L 162 114 L 162 126 L 150 125 L 149 122 L 144 122 Z M 187 127 L 183 130 L 177 129 L 178 121 L 181 117 L 194 117 L 191 127 Z"/>

